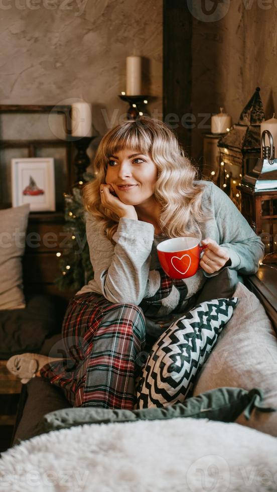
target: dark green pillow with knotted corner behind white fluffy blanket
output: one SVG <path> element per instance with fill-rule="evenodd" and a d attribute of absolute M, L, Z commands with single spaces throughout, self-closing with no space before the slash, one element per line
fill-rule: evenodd
<path fill-rule="evenodd" d="M 137 420 L 168 420 L 193 417 L 221 422 L 233 422 L 242 412 L 244 419 L 251 419 L 254 409 L 258 412 L 272 412 L 274 409 L 262 405 L 262 392 L 253 388 L 217 388 L 197 397 L 188 398 L 166 408 L 145 408 L 140 410 L 105 408 L 66 408 L 44 415 L 38 424 L 36 434 L 66 429 L 84 424 L 109 424 L 134 422 Z"/>

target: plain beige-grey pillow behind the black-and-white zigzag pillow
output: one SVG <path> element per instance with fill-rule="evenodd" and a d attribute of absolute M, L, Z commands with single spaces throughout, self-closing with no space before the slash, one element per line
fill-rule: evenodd
<path fill-rule="evenodd" d="M 193 396 L 221 386 L 260 388 L 264 404 L 277 408 L 277 337 L 257 297 L 240 282 L 234 292 L 239 302 L 202 367 Z M 277 436 L 277 413 L 259 414 L 237 423 Z"/>

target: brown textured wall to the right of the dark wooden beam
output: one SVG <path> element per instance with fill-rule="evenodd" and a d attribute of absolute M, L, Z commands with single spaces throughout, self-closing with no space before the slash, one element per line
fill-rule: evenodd
<path fill-rule="evenodd" d="M 218 21 L 193 18 L 192 112 L 197 127 L 203 120 L 199 113 L 217 113 L 220 106 L 237 122 L 256 86 L 261 88 L 265 118 L 274 108 L 277 112 L 277 2 L 224 0 L 224 4 L 226 14 Z M 203 133 L 209 128 L 197 127 L 192 132 L 192 156 L 199 161 Z"/>

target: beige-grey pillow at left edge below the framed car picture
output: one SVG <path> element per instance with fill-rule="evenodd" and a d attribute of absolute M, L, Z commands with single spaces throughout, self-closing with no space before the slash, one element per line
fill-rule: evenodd
<path fill-rule="evenodd" d="M 0 310 L 25 308 L 22 257 L 30 204 L 0 210 Z"/>

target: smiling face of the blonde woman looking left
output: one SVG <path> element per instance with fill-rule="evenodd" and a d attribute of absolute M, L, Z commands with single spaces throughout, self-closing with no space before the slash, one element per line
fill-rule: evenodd
<path fill-rule="evenodd" d="M 114 189 L 118 198 L 126 204 L 140 205 L 153 196 L 158 169 L 149 154 L 124 149 L 109 156 L 106 183 Z M 120 185 L 132 185 L 129 188 Z"/>

